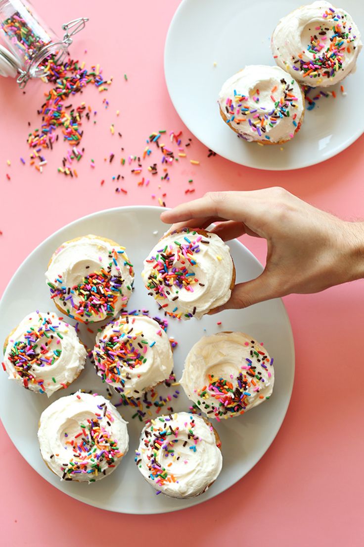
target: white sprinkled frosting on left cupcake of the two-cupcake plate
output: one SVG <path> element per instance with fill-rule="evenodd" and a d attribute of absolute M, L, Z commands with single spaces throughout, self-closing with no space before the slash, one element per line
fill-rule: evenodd
<path fill-rule="evenodd" d="M 226 123 L 244 140 L 284 142 L 300 129 L 302 91 L 277 66 L 250 65 L 226 80 L 218 103 Z"/>

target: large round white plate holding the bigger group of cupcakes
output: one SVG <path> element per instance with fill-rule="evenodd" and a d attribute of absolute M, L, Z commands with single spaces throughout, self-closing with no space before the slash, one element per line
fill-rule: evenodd
<path fill-rule="evenodd" d="M 55 310 L 44 278 L 49 258 L 63 241 L 89 233 L 109 237 L 127 246 L 136 274 L 135 291 L 130 299 L 129 311 L 147 308 L 152 316 L 160 316 L 156 302 L 147 295 L 140 277 L 142 261 L 166 229 L 165 224 L 160 222 L 159 214 L 158 207 L 115 208 L 76 220 L 47 238 L 24 261 L 5 290 L 0 302 L 1 344 L 9 331 L 27 313 L 35 309 Z M 158 234 L 153 234 L 154 231 L 158 231 Z M 230 247 L 236 265 L 237 281 L 248 280 L 261 272 L 258 260 L 241 243 L 232 241 Z M 222 321 L 222 325 L 217 325 L 218 320 Z M 96 330 L 96 325 L 91 325 L 91 328 Z M 294 379 L 294 343 L 289 319 L 281 300 L 271 300 L 243 311 L 226 311 L 218 317 L 204 317 L 201 321 L 178 322 L 172 319 L 168 334 L 175 336 L 178 341 L 174 354 L 177 379 L 181 377 L 184 358 L 190 347 L 204 334 L 212 334 L 219 329 L 241 329 L 259 341 L 264 341 L 271 355 L 275 357 L 276 383 L 271 399 L 265 404 L 244 416 L 216 423 L 222 439 L 223 470 L 213 486 L 197 498 L 181 501 L 163 494 L 156 496 L 142 478 L 134 463 L 134 450 L 138 447 L 142 424 L 136 418 L 132 419 L 135 410 L 129 407 L 118 407 L 129 421 L 129 452 L 110 477 L 91 485 L 61 482 L 46 467 L 40 457 L 37 441 L 39 416 L 53 400 L 76 389 L 92 389 L 106 395 L 105 384 L 96 376 L 91 363 L 87 363 L 86 370 L 67 391 L 58 392 L 50 400 L 45 395 L 23 389 L 8 380 L 7 375 L 1 371 L 0 411 L 5 429 L 22 456 L 50 484 L 95 507 L 121 513 L 163 513 L 189 507 L 216 496 L 248 473 L 268 449 L 283 422 Z M 94 337 L 84 325 L 80 328 L 80 337 L 88 347 L 93 346 Z M 112 401 L 117 402 L 117 398 L 113 397 Z M 175 411 L 187 410 L 189 406 L 182 393 L 177 400 L 173 399 L 172 404 Z"/>

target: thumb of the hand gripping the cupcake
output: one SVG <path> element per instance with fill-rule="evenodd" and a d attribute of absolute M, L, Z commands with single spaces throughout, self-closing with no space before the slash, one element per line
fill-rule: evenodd
<path fill-rule="evenodd" d="M 246 308 L 264 300 L 278 298 L 278 296 L 280 296 L 280 294 L 276 288 L 273 276 L 264 270 L 259 277 L 247 281 L 246 283 L 238 283 L 235 285 L 234 289 L 232 289 L 231 297 L 226 304 L 211 310 L 210 313 Z"/>

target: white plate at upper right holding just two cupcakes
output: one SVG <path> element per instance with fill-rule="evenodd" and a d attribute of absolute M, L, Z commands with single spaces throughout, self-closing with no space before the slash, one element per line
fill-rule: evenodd
<path fill-rule="evenodd" d="M 306 111 L 300 132 L 283 150 L 278 145 L 243 142 L 220 118 L 217 97 L 225 80 L 245 65 L 275 65 L 271 33 L 282 16 L 303 3 L 183 0 L 178 7 L 164 50 L 168 91 L 188 129 L 220 156 L 259 169 L 297 169 L 335 156 L 362 134 L 363 51 L 355 74 L 343 82 L 347 95 L 342 95 L 340 85 L 329 88 L 337 98 L 321 97 L 313 110 Z M 338 4 L 364 33 L 364 2 L 342 0 Z"/>

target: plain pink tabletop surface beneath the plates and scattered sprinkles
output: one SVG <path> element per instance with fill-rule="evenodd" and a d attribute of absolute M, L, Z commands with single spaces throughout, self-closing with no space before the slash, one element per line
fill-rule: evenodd
<path fill-rule="evenodd" d="M 191 137 L 172 107 L 163 73 L 165 35 L 178 0 L 87 5 L 66 0 L 61 8 L 46 0 L 33 3 L 55 29 L 74 17 L 89 16 L 86 30 L 71 46 L 72 56 L 85 60 L 87 66 L 100 63 L 114 82 L 104 94 L 87 89 L 72 101 L 76 105 L 83 100 L 98 114 L 97 124 L 87 125 L 85 120 L 85 157 L 77 165 L 79 178 L 71 179 L 57 173 L 66 149 L 61 142 L 47 154 L 43 174 L 19 160 L 23 156 L 28 164 L 27 123 L 32 128 L 39 125 L 36 111 L 45 84 L 30 83 L 23 96 L 15 80 L 1 79 L 1 293 L 28 253 L 64 224 L 104 208 L 158 205 L 158 196 L 164 192 L 166 205 L 174 206 L 207 190 L 282 185 L 338 216 L 363 216 L 363 137 L 323 164 L 283 173 L 252 170 L 217 156 L 207 158 L 206 148 L 193 138 L 188 157 L 200 160 L 199 166 L 181 160 L 172 166 L 171 180 L 163 182 L 162 188 L 158 189 L 158 177 L 148 188 L 138 186 L 140 178 L 130 174 L 129 167 L 120 166 L 121 146 L 123 155 L 139 155 L 147 136 L 160 129 L 182 130 L 183 142 Z M 108 109 L 103 98 L 109 101 Z M 120 110 L 118 117 L 116 110 Z M 111 135 L 111 123 L 122 138 Z M 111 153 L 115 160 L 109 164 L 104 158 Z M 159 154 L 154 155 L 159 162 Z M 94 170 L 89 166 L 91 158 Z M 119 172 L 125 176 L 123 188 L 128 194 L 115 193 L 120 184 L 111 177 Z M 190 178 L 192 185 L 187 182 Z M 186 196 L 187 187 L 195 188 L 195 193 Z M 154 200 L 152 193 L 157 196 Z M 243 242 L 264 262 L 264 242 L 254 238 Z M 7 544 L 99 545 L 101 538 L 118 537 L 126 544 L 158 540 L 183 545 L 178 528 L 182 526 L 188 527 L 189 543 L 196 545 L 208 545 L 217 538 L 223 541 L 227 535 L 244 545 L 363 545 L 363 282 L 284 300 L 296 344 L 293 396 L 276 440 L 247 476 L 218 497 L 177 513 L 108 513 L 52 488 L 20 456 L 1 427 L 0 518 Z"/>

